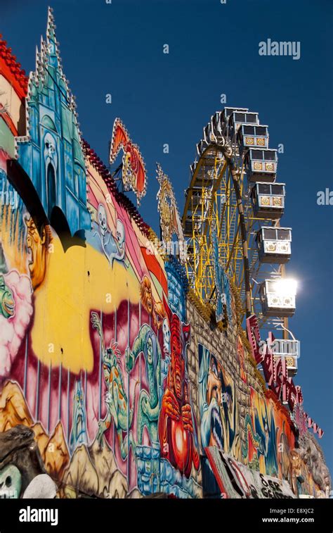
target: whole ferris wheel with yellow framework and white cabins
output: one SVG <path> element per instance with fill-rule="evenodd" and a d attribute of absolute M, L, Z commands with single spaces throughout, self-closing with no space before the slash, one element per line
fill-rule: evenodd
<path fill-rule="evenodd" d="M 296 284 L 285 272 L 292 229 L 280 223 L 285 183 L 277 180 L 278 151 L 268 142 L 268 126 L 247 108 L 226 107 L 204 127 L 185 191 L 186 269 L 192 291 L 218 322 L 217 253 L 240 296 L 241 319 L 255 314 L 259 327 L 281 330 L 280 351 L 296 372 L 299 341 L 288 327 Z"/>

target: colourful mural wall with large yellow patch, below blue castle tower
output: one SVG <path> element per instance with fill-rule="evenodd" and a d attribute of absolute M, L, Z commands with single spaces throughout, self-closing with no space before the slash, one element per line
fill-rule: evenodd
<path fill-rule="evenodd" d="M 197 496 L 190 325 L 89 161 L 87 177 L 84 243 L 50 225 L 39 234 L 21 199 L 1 203 L 1 431 L 32 427 L 62 496 Z"/>

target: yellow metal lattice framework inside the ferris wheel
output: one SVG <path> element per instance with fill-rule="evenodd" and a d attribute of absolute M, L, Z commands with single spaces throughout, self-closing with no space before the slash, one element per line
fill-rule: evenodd
<path fill-rule="evenodd" d="M 228 161 L 218 146 L 210 146 L 197 163 L 188 189 L 183 227 L 188 239 L 188 279 L 202 303 L 211 301 L 214 293 L 213 230 L 223 268 L 240 287 L 243 254 L 239 210 Z"/>

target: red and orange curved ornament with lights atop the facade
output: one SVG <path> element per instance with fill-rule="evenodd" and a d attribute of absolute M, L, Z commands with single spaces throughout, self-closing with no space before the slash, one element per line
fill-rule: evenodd
<path fill-rule="evenodd" d="M 143 156 L 137 144 L 131 142 L 129 133 L 120 118 L 116 118 L 110 143 L 110 164 L 114 163 L 122 149 L 122 182 L 125 191 L 133 191 L 140 205 L 147 190 L 147 173 Z"/>

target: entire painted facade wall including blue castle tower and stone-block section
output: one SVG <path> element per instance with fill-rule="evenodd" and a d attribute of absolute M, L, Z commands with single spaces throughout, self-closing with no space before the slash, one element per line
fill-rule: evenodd
<path fill-rule="evenodd" d="M 1 497 L 32 494 L 37 478 L 50 497 L 218 497 L 212 448 L 318 495 L 314 445 L 295 451 L 228 278 L 228 327 L 212 329 L 183 261 L 151 252 L 83 141 L 51 12 L 29 80 L 0 51 Z"/>

